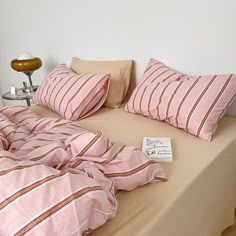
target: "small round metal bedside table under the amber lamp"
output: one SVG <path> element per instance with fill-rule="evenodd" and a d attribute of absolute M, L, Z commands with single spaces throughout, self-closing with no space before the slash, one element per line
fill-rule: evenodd
<path fill-rule="evenodd" d="M 39 86 L 34 86 L 34 90 L 36 91 Z M 16 94 L 11 94 L 11 92 L 7 92 L 2 95 L 3 99 L 6 100 L 25 100 L 28 107 L 31 106 L 30 99 L 32 99 L 35 92 L 24 93 L 23 88 L 17 89 Z"/>

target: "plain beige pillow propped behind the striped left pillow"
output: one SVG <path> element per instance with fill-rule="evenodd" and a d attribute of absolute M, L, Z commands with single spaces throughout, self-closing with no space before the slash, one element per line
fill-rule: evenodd
<path fill-rule="evenodd" d="M 127 94 L 133 61 L 85 61 L 76 57 L 72 59 L 71 69 L 76 73 L 110 74 L 110 88 L 105 107 L 118 108 Z"/>

